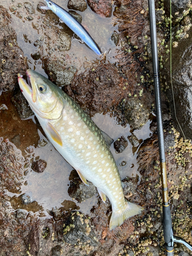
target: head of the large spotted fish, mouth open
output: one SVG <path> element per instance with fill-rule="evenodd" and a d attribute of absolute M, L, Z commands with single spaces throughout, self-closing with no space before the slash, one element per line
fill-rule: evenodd
<path fill-rule="evenodd" d="M 35 114 L 46 119 L 58 119 L 63 109 L 62 91 L 46 77 L 27 70 L 28 83 L 18 74 L 20 90 Z"/>

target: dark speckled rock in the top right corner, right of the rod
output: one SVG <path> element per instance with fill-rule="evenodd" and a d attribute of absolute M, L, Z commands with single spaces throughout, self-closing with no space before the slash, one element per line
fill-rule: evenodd
<path fill-rule="evenodd" d="M 173 24 L 180 22 L 192 8 L 191 0 L 172 0 L 172 21 Z M 164 9 L 167 16 L 170 16 L 170 1 L 164 0 Z"/>

